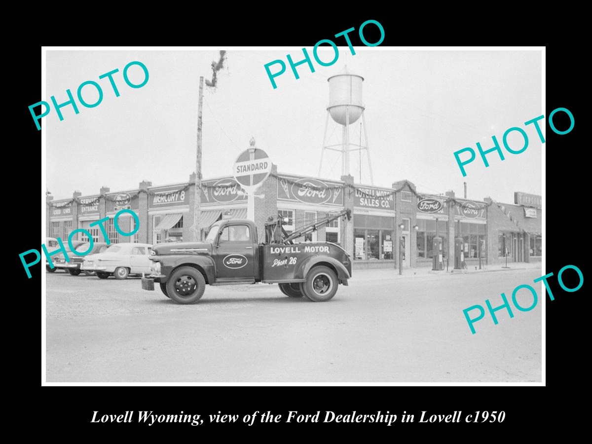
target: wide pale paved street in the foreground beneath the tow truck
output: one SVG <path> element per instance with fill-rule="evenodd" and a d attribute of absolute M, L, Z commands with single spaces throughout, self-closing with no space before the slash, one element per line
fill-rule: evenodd
<path fill-rule="evenodd" d="M 207 287 L 195 305 L 139 278 L 46 274 L 47 382 L 540 381 L 542 274 L 364 270 L 327 303 L 258 284 Z M 462 310 L 521 284 L 536 308 L 497 311 L 497 326 L 486 313 L 471 334 Z"/>

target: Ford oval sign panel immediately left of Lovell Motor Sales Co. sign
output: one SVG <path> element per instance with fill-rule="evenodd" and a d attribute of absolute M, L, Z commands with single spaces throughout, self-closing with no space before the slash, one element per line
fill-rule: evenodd
<path fill-rule="evenodd" d="M 278 199 L 343 206 L 343 186 L 310 178 L 278 178 Z"/>

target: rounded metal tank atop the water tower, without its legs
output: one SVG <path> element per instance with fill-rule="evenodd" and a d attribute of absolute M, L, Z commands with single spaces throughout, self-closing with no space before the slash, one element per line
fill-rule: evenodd
<path fill-rule="evenodd" d="M 354 123 L 362 115 L 362 76 L 352 73 L 348 67 L 329 79 L 329 106 L 327 110 L 334 121 L 340 125 L 347 123 L 349 112 L 349 124 Z"/>

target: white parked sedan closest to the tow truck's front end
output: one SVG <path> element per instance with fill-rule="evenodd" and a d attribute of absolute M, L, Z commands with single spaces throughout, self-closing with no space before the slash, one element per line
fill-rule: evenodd
<path fill-rule="evenodd" d="M 99 279 L 114 275 L 115 279 L 126 279 L 128 275 L 150 273 L 149 256 L 152 244 L 118 243 L 102 253 L 88 255 L 82 262 L 82 271 L 94 271 Z"/>

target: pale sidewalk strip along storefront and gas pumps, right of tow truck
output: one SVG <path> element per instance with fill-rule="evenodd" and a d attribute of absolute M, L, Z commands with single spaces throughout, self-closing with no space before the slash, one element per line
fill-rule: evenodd
<path fill-rule="evenodd" d="M 509 268 L 504 268 L 505 264 L 496 264 L 496 265 L 487 265 L 479 266 L 477 265 L 477 269 L 475 270 L 475 266 L 468 266 L 468 269 L 460 269 L 455 270 L 453 268 L 449 268 L 448 272 L 446 269 L 442 271 L 432 271 L 430 267 L 420 267 L 420 268 L 404 268 L 403 274 L 399 275 L 398 268 L 377 268 L 377 269 L 369 269 L 369 270 L 352 270 L 353 278 L 361 278 L 361 279 L 379 279 L 379 278 L 409 278 L 413 276 L 444 276 L 444 275 L 459 275 L 459 274 L 477 274 L 477 273 L 485 273 L 485 272 L 504 272 L 504 271 L 516 271 L 516 270 L 527 270 L 527 269 L 540 269 L 540 262 L 534 263 L 526 263 L 526 262 L 513 262 L 509 263 Z"/>

